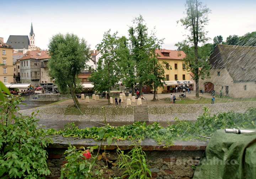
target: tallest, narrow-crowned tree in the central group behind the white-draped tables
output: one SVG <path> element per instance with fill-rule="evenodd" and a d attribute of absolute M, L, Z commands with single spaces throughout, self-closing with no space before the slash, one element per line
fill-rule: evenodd
<path fill-rule="evenodd" d="M 142 15 L 135 17 L 132 22 L 134 27 L 129 27 L 128 30 L 131 52 L 130 58 L 136 62 L 138 81 L 140 89 L 142 89 L 142 84 L 144 83 L 142 76 L 145 72 L 144 69 L 146 68 L 145 62 L 149 58 L 148 28 L 146 27 L 146 24 L 144 24 L 145 21 Z M 142 90 L 140 90 L 140 93 L 142 93 Z"/>

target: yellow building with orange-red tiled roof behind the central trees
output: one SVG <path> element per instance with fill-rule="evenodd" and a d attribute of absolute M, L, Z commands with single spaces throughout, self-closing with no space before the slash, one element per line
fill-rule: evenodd
<path fill-rule="evenodd" d="M 169 67 L 169 70 L 165 68 L 166 85 L 164 88 L 158 88 L 158 93 L 170 93 L 171 88 L 178 87 L 181 81 L 183 83 L 186 81 L 191 86 L 190 73 L 186 71 L 185 64 L 181 61 L 186 56 L 183 51 L 160 49 L 156 50 L 156 53 L 160 56 L 159 63 L 165 61 L 168 63 L 166 67 Z"/>

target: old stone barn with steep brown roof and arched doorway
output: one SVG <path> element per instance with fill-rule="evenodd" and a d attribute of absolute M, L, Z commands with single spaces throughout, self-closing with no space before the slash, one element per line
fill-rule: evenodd
<path fill-rule="evenodd" d="M 217 44 L 210 55 L 210 79 L 199 80 L 199 89 L 215 90 L 232 98 L 256 97 L 256 47 Z"/>

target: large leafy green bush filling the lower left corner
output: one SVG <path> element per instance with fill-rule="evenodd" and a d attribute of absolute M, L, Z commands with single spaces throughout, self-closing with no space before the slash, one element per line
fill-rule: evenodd
<path fill-rule="evenodd" d="M 1 89 L 2 88 L 1 86 Z M 2 94 L 2 92 L 1 92 Z M 49 130 L 39 126 L 34 112 L 18 113 L 21 97 L 2 94 L 0 101 L 0 178 L 44 178 L 49 175 L 44 148 L 52 143 Z M 37 111 L 38 112 L 38 111 Z"/>

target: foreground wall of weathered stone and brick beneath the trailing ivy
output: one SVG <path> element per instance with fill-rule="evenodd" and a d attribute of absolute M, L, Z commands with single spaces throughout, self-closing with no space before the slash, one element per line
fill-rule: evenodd
<path fill-rule="evenodd" d="M 53 138 L 55 141 L 46 150 L 48 152 L 47 166 L 52 172 L 48 179 L 57 179 L 60 177 L 60 169 L 67 161 L 65 160 L 65 150 L 68 148 L 68 142 L 71 145 L 94 146 L 100 145 L 101 141 L 95 141 L 94 139 L 80 139 L 80 138 L 63 138 L 61 136 Z M 127 154 L 131 146 L 129 140 L 117 142 L 118 147 Z M 152 173 L 152 179 L 191 179 L 194 174 L 194 167 L 196 166 L 200 157 L 206 149 L 207 142 L 200 141 L 176 141 L 174 146 L 164 148 L 164 145 L 158 145 L 152 139 L 145 139 L 141 142 L 143 151 L 146 154 L 149 162 L 149 169 Z M 106 153 L 110 154 L 108 160 L 118 163 L 118 155 L 116 153 L 117 146 L 113 143 L 108 146 L 106 141 L 103 142 L 103 147 L 106 145 Z M 100 151 L 100 155 L 104 150 Z M 93 156 L 96 156 L 96 151 Z M 106 165 L 106 160 L 103 157 L 101 160 L 97 160 L 96 164 L 100 167 Z M 103 177 L 108 178 L 107 169 L 103 169 Z M 118 166 L 108 165 L 108 173 L 110 176 L 122 176 L 123 171 L 119 170 Z"/>

